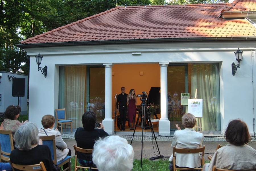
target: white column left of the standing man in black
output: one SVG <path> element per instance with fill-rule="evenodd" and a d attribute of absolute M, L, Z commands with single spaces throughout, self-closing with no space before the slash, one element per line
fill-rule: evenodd
<path fill-rule="evenodd" d="M 104 130 L 108 134 L 114 133 L 114 120 L 112 118 L 112 64 L 103 64 L 105 66 L 105 118 L 102 121 Z"/>

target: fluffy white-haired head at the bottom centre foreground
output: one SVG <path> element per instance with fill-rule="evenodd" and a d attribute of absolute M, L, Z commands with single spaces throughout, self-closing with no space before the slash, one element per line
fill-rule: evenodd
<path fill-rule="evenodd" d="M 130 171 L 133 158 L 133 147 L 117 135 L 100 138 L 94 144 L 92 160 L 99 171 Z"/>

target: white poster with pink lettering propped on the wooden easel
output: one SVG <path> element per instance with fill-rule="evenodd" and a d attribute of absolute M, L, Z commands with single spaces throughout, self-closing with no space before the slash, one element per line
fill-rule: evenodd
<path fill-rule="evenodd" d="M 188 99 L 187 112 L 192 113 L 196 118 L 202 118 L 203 99 Z"/>

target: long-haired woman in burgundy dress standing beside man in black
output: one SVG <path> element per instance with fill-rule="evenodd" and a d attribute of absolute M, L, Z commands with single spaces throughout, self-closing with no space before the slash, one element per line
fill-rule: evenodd
<path fill-rule="evenodd" d="M 137 103 L 137 96 L 135 94 L 135 90 L 131 89 L 127 96 L 127 104 L 128 104 L 127 111 L 128 111 L 130 130 L 134 130 L 134 123 L 135 123 L 135 117 L 136 117 L 136 103 Z M 133 123 L 133 126 L 131 123 Z"/>

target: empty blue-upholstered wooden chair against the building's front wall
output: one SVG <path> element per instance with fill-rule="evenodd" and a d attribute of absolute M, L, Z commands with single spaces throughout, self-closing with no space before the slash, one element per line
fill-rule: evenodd
<path fill-rule="evenodd" d="M 72 133 L 72 120 L 66 120 L 66 109 L 55 109 L 56 119 L 57 119 L 57 128 L 61 128 L 62 134 L 62 125 L 65 125 L 64 129 L 66 131 L 66 126 L 70 126 Z"/>

